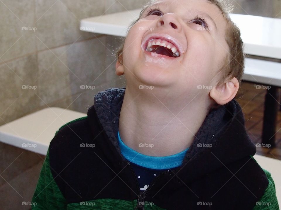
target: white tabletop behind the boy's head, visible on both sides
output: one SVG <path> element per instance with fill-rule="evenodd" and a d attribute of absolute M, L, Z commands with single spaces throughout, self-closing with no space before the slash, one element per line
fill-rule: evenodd
<path fill-rule="evenodd" d="M 92 33 L 126 36 L 129 24 L 141 9 L 82 19 L 80 30 Z M 230 14 L 241 30 L 245 53 L 281 59 L 281 19 L 253 15 Z"/>

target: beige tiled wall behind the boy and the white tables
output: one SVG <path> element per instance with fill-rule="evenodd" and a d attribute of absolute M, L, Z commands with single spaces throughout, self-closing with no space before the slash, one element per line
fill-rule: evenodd
<path fill-rule="evenodd" d="M 281 18 L 279 0 L 232 2 L 234 13 Z M 124 76 L 115 75 L 112 56 L 119 37 L 82 32 L 79 24 L 85 17 L 140 8 L 144 3 L 1 0 L 0 125 L 47 106 L 86 113 L 97 92 L 125 86 Z M 95 89 L 80 89 L 80 85 L 95 85 Z M 21 202 L 30 201 L 43 160 L 42 155 L 0 143 L 2 209 L 29 209 Z"/>

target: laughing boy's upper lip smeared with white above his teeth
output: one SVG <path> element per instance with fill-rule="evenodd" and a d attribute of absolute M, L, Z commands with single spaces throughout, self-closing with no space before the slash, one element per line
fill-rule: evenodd
<path fill-rule="evenodd" d="M 142 48 L 145 50 L 147 44 L 148 44 L 148 41 L 150 41 L 151 39 L 153 38 L 160 38 L 162 40 L 166 40 L 168 42 L 171 42 L 174 46 L 176 46 L 177 50 L 179 51 L 179 54 L 181 55 L 182 53 L 184 53 L 184 50 L 183 50 L 183 46 L 182 46 L 182 43 L 177 40 L 176 38 L 174 38 L 173 36 L 170 36 L 169 34 L 156 34 L 156 33 L 153 33 L 153 34 L 148 34 L 146 35 L 142 42 L 141 42 L 141 46 Z"/>

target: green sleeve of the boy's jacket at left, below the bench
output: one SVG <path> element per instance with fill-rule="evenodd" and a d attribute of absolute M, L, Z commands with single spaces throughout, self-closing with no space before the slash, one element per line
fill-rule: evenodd
<path fill-rule="evenodd" d="M 32 203 L 32 210 L 62 210 L 66 209 L 67 206 L 66 199 L 59 190 L 51 173 L 49 149 L 32 197 Z"/>

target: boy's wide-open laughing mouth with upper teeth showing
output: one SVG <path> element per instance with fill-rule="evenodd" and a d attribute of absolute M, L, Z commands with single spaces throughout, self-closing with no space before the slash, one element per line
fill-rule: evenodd
<path fill-rule="evenodd" d="M 176 46 L 174 46 L 169 41 L 159 38 L 153 38 L 150 41 L 148 41 L 145 50 L 148 52 L 157 53 L 160 55 L 166 55 L 174 58 L 180 56 L 179 50 L 177 49 Z"/>

